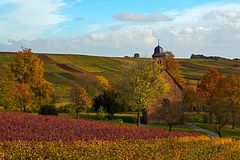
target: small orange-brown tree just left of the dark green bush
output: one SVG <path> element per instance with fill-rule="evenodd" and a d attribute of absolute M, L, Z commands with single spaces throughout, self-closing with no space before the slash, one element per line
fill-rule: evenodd
<path fill-rule="evenodd" d="M 73 109 L 78 118 L 80 112 L 86 111 L 92 106 L 92 100 L 86 89 L 79 84 L 72 85 L 70 97 Z"/>

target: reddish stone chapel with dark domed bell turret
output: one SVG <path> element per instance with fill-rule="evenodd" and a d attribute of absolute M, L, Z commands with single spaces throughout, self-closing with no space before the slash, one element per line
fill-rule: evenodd
<path fill-rule="evenodd" d="M 145 121 L 148 124 L 151 123 L 160 123 L 160 108 L 169 105 L 176 105 L 176 107 L 180 106 L 183 101 L 183 91 L 181 85 L 173 78 L 173 76 L 166 70 L 164 60 L 165 60 L 165 52 L 161 46 L 158 46 L 154 49 L 154 53 L 152 58 L 156 60 L 156 62 L 162 66 L 162 74 L 166 80 L 166 82 L 170 85 L 170 91 L 164 95 L 159 97 L 156 102 L 152 103 L 145 112 Z"/>

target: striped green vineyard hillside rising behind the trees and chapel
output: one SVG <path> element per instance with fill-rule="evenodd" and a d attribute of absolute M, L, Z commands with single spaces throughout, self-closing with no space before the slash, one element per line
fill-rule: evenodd
<path fill-rule="evenodd" d="M 44 63 L 46 79 L 55 88 L 67 90 L 69 84 L 78 81 L 92 91 L 96 85 L 95 75 L 107 77 L 110 81 L 117 79 L 119 71 L 131 58 L 112 58 L 83 55 L 39 54 Z M 14 54 L 0 53 L 0 65 L 13 61 Z M 240 73 L 240 62 L 233 60 L 212 59 L 178 59 L 184 78 L 197 82 L 209 68 L 216 68 L 224 74 Z"/>

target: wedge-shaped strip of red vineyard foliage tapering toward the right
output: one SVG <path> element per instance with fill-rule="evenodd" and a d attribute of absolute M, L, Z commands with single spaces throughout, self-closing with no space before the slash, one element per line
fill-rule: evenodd
<path fill-rule="evenodd" d="M 0 141 L 129 140 L 198 136 L 183 132 L 0 111 Z"/>

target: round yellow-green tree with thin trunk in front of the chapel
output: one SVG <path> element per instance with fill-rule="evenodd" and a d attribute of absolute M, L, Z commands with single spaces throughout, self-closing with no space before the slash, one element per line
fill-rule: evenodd
<path fill-rule="evenodd" d="M 161 74 L 161 67 L 153 60 L 138 59 L 122 73 L 119 90 L 128 105 L 137 111 L 137 125 L 140 114 L 159 95 L 167 92 L 167 85 Z"/>

